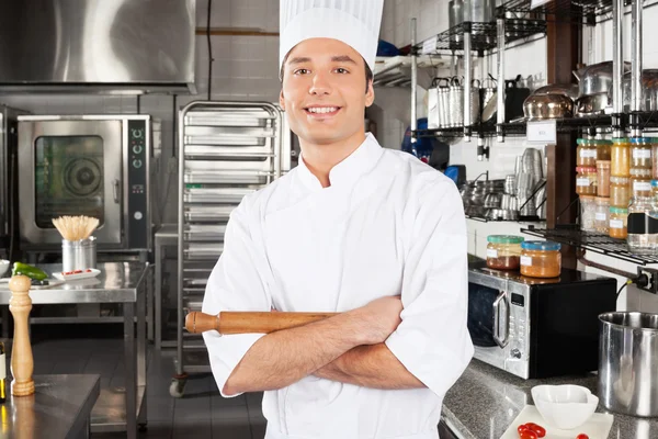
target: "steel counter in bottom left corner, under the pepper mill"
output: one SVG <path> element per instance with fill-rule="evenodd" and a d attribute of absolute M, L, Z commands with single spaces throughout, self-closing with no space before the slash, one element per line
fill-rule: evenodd
<path fill-rule="evenodd" d="M 35 375 L 35 393 L 0 404 L 2 438 L 87 438 L 100 375 Z"/>

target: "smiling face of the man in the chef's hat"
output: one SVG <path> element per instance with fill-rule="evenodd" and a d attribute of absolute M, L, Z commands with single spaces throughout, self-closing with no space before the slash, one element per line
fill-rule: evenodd
<path fill-rule="evenodd" d="M 338 40 L 306 40 L 286 57 L 280 102 L 302 140 L 330 145 L 363 135 L 374 98 L 363 57 Z"/>

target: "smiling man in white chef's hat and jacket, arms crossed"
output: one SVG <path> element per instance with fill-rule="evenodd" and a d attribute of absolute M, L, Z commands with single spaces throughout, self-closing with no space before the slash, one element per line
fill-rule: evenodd
<path fill-rule="evenodd" d="M 383 0 L 281 1 L 281 105 L 299 165 L 232 212 L 203 312 L 338 312 L 204 333 L 226 397 L 263 392 L 268 439 L 438 438 L 473 356 L 455 184 L 364 132 Z"/>

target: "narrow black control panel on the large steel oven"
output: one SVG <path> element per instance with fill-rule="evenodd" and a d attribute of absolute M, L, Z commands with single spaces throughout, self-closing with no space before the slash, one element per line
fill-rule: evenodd
<path fill-rule="evenodd" d="M 148 125 L 128 121 L 128 245 L 148 248 Z"/>

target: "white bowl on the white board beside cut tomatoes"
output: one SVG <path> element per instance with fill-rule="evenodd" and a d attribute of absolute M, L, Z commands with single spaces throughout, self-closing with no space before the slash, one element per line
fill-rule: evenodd
<path fill-rule="evenodd" d="M 537 385 L 532 398 L 547 424 L 561 430 L 580 427 L 594 414 L 599 398 L 580 385 Z"/>

